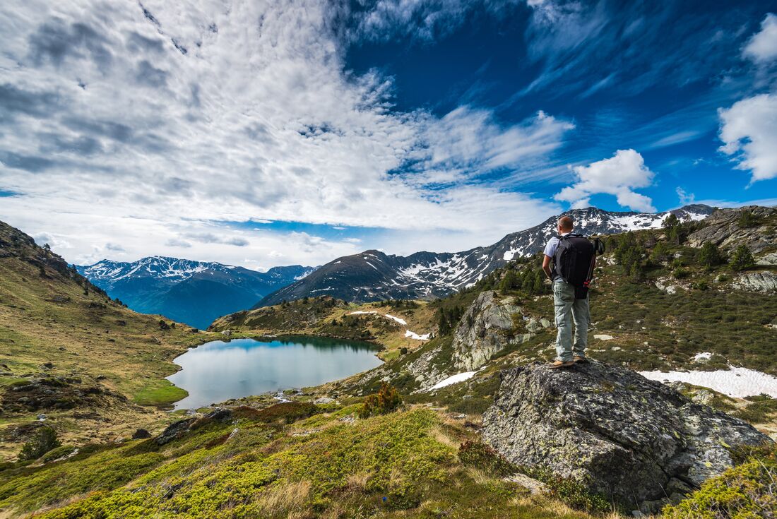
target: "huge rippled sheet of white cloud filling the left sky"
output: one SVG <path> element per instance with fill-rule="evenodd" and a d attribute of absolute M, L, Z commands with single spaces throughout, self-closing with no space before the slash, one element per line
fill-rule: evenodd
<path fill-rule="evenodd" d="M 44 0 L 5 2 L 0 187 L 23 194 L 4 198 L 0 215 L 68 236 L 78 261 L 95 251 L 129 257 L 182 248 L 234 261 L 228 246 L 238 246 L 293 263 L 314 248 L 322 263 L 354 243 L 287 233 L 275 240 L 260 231 L 230 241 L 226 227 L 203 239 L 200 227 L 282 220 L 448 230 L 472 240 L 556 208 L 479 176 L 542 163 L 570 124 L 544 112 L 500 124 L 489 109 L 469 106 L 448 120 L 391 110 L 390 77 L 343 68 L 338 24 L 356 16 L 343 9 L 312 0 L 81 0 L 57 9 Z M 364 31 L 380 32 L 377 18 L 362 15 L 354 19 Z M 453 118 L 483 132 L 479 145 L 456 149 L 468 137 L 445 131 Z M 409 158 L 434 167 L 389 174 Z M 448 169 L 456 174 L 441 186 L 434 177 Z M 496 203 L 462 214 L 463 197 Z M 94 229 L 88 242 L 73 239 L 76 228 Z M 158 237 L 153 251 L 141 244 L 149 233 Z M 262 239 L 278 245 L 268 249 Z"/>

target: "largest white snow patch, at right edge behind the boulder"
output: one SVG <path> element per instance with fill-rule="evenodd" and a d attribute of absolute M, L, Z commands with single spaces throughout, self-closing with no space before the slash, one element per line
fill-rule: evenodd
<path fill-rule="evenodd" d="M 729 370 L 717 371 L 639 371 L 645 378 L 656 381 L 687 382 L 714 389 L 735 398 L 745 396 L 765 395 L 777 398 L 777 377 L 747 369 L 747 367 L 731 367 Z"/>

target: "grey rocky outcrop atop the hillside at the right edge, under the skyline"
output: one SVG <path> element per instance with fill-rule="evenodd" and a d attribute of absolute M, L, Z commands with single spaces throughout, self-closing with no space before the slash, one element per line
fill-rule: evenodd
<path fill-rule="evenodd" d="M 751 222 L 745 225 L 742 214 L 752 214 Z M 713 242 L 723 249 L 735 249 L 744 243 L 752 253 L 773 247 L 777 208 L 752 205 L 737 209 L 718 209 L 705 220 L 705 226 L 688 236 L 688 245 L 700 247 L 704 242 Z"/>

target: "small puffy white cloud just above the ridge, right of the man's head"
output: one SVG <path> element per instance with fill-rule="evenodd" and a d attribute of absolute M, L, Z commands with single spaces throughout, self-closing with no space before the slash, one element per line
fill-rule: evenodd
<path fill-rule="evenodd" d="M 634 190 L 653 184 L 653 172 L 638 152 L 618 150 L 611 158 L 573 168 L 577 182 L 556 194 L 556 200 L 570 202 L 573 208 L 587 207 L 592 195 L 615 195 L 618 204 L 633 211 L 656 211 L 653 200 Z"/>

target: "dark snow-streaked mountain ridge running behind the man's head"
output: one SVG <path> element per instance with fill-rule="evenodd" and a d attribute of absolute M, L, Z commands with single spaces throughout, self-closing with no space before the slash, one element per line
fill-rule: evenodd
<path fill-rule="evenodd" d="M 663 213 L 614 212 L 587 207 L 564 214 L 573 218 L 576 232 L 594 235 L 657 228 L 670 213 L 683 221 L 702 220 L 713 211 L 714 207 L 692 204 Z M 353 302 L 444 297 L 476 283 L 510 259 L 542 250 L 556 234 L 556 221 L 554 216 L 540 225 L 509 234 L 491 246 L 460 253 L 394 256 L 368 250 L 343 256 L 319 267 L 305 279 L 267 295 L 253 308 L 319 295 Z"/>

